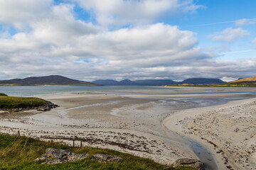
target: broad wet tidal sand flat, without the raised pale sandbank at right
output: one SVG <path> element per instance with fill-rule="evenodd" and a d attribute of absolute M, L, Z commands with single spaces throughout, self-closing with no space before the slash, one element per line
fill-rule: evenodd
<path fill-rule="evenodd" d="M 206 89 L 196 89 L 198 93 L 203 91 Z M 76 145 L 82 141 L 82 145 L 115 149 L 154 159 L 161 164 L 171 164 L 183 157 L 197 159 L 188 145 L 188 139 L 194 138 L 183 137 L 183 130 L 177 131 L 176 126 L 169 126 L 165 118 L 177 113 L 185 115 L 188 108 L 225 103 L 223 98 L 253 97 L 254 94 L 189 93 L 195 93 L 195 89 L 178 89 L 175 93 L 172 91 L 167 94 L 161 91 L 134 91 L 128 94 L 119 91 L 107 95 L 73 93 L 40 96 L 60 107 L 49 112 L 27 111 L 20 116 L 16 113 L 0 113 L 0 132 L 16 134 L 20 130 L 21 134 L 29 137 L 69 145 L 73 144 L 73 140 Z M 202 141 L 196 140 L 211 149 L 206 141 Z M 218 166 L 225 167 L 223 164 L 220 159 Z"/>

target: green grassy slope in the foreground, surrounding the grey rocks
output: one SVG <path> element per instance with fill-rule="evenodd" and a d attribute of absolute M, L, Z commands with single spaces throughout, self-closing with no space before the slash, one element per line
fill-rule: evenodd
<path fill-rule="evenodd" d="M 46 165 L 42 161 L 33 160 L 44 154 L 47 148 L 70 149 L 75 153 L 88 153 L 90 157 L 78 162 L 65 164 Z M 93 154 L 111 154 L 122 157 L 123 161 L 119 163 L 98 163 L 90 158 Z M 0 135 L 0 169 L 90 169 L 90 170 L 193 170 L 189 167 L 170 168 L 165 165 L 157 164 L 150 159 L 134 157 L 131 154 L 124 154 L 110 149 L 98 149 L 92 147 L 68 147 L 54 142 L 42 142 L 29 137 L 18 137 L 9 135 Z"/>

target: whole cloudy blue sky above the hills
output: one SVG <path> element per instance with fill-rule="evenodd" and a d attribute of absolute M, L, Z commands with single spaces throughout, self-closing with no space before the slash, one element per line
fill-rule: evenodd
<path fill-rule="evenodd" d="M 256 76 L 255 0 L 0 0 L 0 79 Z"/>

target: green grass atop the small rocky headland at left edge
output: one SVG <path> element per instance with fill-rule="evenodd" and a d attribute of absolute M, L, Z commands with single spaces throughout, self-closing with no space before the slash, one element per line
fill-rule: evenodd
<path fill-rule="evenodd" d="M 13 97 L 0 94 L 0 109 L 9 110 L 14 108 L 37 108 L 46 105 L 46 101 L 33 97 Z"/>

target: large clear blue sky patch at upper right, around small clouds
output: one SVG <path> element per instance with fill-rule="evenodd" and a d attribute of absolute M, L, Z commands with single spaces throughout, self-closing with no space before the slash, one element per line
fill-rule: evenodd
<path fill-rule="evenodd" d="M 191 30 L 197 33 L 199 46 L 207 48 L 223 45 L 223 42 L 213 42 L 208 35 L 225 30 L 225 28 L 243 28 L 250 32 L 247 38 L 241 38 L 228 44 L 229 50 L 223 52 L 220 59 L 236 60 L 256 56 L 252 40 L 256 37 L 255 24 L 236 26 L 235 22 L 248 19 L 256 23 L 256 1 L 225 0 L 225 1 L 197 1 L 197 4 L 205 6 L 196 13 L 182 18 L 170 18 L 164 22 L 177 25 L 182 30 Z"/>

